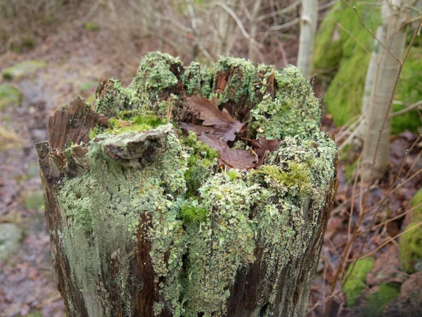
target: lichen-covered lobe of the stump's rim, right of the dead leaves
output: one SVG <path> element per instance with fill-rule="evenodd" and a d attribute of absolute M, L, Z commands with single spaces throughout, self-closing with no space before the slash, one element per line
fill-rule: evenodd
<path fill-rule="evenodd" d="M 276 72 L 275 81 L 275 97 L 266 94 L 250 111 L 252 129 L 267 139 L 312 137 L 319 130 L 321 109 L 311 85 L 295 66 Z"/>

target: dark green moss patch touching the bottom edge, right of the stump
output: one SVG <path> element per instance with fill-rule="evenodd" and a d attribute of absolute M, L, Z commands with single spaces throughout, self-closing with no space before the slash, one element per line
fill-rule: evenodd
<path fill-rule="evenodd" d="M 385 306 L 392 300 L 399 297 L 400 290 L 388 284 L 378 286 L 376 292 L 366 295 L 366 305 L 362 310 L 364 317 L 384 316 Z"/>

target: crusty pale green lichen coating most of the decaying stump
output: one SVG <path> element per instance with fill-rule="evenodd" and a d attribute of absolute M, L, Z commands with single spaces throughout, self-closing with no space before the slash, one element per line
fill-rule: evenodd
<path fill-rule="evenodd" d="M 215 78 L 227 70 L 224 89 L 216 91 L 222 83 Z M 245 101 L 243 109 L 254 109 L 252 134 L 282 139 L 280 149 L 257 170 L 217 173 L 217 151 L 165 124 L 162 94 L 174 85 L 184 85 L 186 95 L 214 95 L 220 105 Z M 140 237 L 151 244 L 160 288 L 155 316 L 166 309 L 174 317 L 223 314 L 236 274 L 257 260 L 256 249 L 266 263 L 258 306 L 270 314 L 283 268 L 303 256 L 319 230 L 335 180 L 336 147 L 319 130 L 319 101 L 309 82 L 294 66 L 255 68 L 223 58 L 200 70 L 197 63 L 184 68 L 178 58 L 153 53 L 141 60 L 132 84 L 116 91 L 124 106 L 119 98 L 100 101 L 100 108 L 115 107 L 111 128 L 92 132 L 87 166 L 60 187 L 66 219 L 60 237 L 89 316 L 110 316 L 98 276 L 110 259 L 118 263 L 117 286 L 130 315 L 128 275 Z M 127 153 L 128 139 L 154 131 L 165 132 L 167 143 L 153 161 L 116 158 Z M 110 144 L 118 146 L 112 151 Z"/>

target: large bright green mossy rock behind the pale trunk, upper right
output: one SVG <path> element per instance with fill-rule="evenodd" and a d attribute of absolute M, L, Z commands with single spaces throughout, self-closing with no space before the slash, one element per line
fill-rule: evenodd
<path fill-rule="evenodd" d="M 381 25 L 379 6 L 357 1 L 352 1 L 351 4 L 357 8 L 366 27 L 376 32 L 377 27 Z M 357 40 L 350 36 L 349 32 Z M 327 113 L 333 115 L 334 123 L 338 126 L 361 114 L 366 70 L 371 56 L 357 41 L 368 51 L 373 50 L 372 35 L 362 26 L 353 8 L 340 1 L 321 23 L 316 35 L 313 63 L 316 73 L 330 82 L 324 104 Z M 422 99 L 422 75 L 418 72 L 422 67 L 421 54 L 421 47 L 412 47 L 404 63 L 395 92 L 395 99 L 404 104 L 414 104 Z M 404 107 L 393 105 L 393 111 Z M 392 118 L 392 134 L 397 135 L 407 129 L 417 132 L 421 125 L 417 112 L 409 111 Z"/>

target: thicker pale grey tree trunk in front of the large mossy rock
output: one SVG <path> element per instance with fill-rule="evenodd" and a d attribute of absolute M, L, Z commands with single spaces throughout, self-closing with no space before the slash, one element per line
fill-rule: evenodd
<path fill-rule="evenodd" d="M 378 46 L 380 50 L 377 54 L 379 56 L 378 70 L 372 68 L 371 73 L 367 75 L 368 83 L 373 80 L 373 89 L 371 106 L 366 116 L 368 128 L 363 153 L 362 178 L 366 182 L 371 182 L 371 178 L 382 178 L 390 163 L 392 114 L 390 101 L 395 92 L 400 66 L 395 57 L 402 58 L 403 56 L 407 28 L 402 25 L 409 18 L 409 6 L 412 4 L 414 0 L 393 0 L 390 3 L 383 3 L 381 10 L 383 30 L 377 33 L 385 34 L 383 44 L 386 49 L 382 45 Z M 376 70 L 376 75 L 372 73 L 374 70 Z"/>

